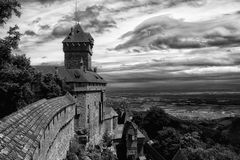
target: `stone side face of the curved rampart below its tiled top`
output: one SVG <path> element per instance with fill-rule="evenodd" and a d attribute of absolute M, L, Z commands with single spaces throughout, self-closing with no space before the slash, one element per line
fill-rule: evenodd
<path fill-rule="evenodd" d="M 66 157 L 69 143 L 74 136 L 75 106 L 55 115 L 44 131 L 33 160 L 62 160 Z"/>

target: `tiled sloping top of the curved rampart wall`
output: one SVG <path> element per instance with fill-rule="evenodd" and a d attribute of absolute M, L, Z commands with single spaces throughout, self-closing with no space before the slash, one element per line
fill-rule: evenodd
<path fill-rule="evenodd" d="M 31 159 L 52 119 L 75 104 L 67 93 L 53 99 L 42 99 L 0 120 L 0 159 Z"/>

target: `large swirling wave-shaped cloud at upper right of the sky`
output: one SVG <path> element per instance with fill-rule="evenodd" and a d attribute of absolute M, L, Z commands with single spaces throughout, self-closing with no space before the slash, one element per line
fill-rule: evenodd
<path fill-rule="evenodd" d="M 239 18 L 238 15 L 226 15 L 211 21 L 193 23 L 166 16 L 154 17 L 123 35 L 122 38 L 130 37 L 130 40 L 116 49 L 135 46 L 150 49 L 236 46 L 240 43 L 240 23 L 236 22 Z"/>

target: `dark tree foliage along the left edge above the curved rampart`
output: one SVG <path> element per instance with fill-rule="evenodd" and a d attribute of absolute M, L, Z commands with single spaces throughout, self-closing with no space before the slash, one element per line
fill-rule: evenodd
<path fill-rule="evenodd" d="M 16 0 L 0 0 L 0 25 L 14 13 L 20 16 Z M 18 26 L 10 27 L 7 36 L 0 38 L 0 118 L 42 98 L 64 94 L 61 80 L 54 75 L 35 71 L 25 55 L 12 54 L 18 48 L 21 34 Z"/>

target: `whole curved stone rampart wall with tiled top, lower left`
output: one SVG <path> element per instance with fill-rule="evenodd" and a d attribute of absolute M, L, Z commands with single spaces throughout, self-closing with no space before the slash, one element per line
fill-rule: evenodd
<path fill-rule="evenodd" d="M 41 100 L 0 121 L 0 160 L 58 160 L 74 135 L 71 95 Z"/>

